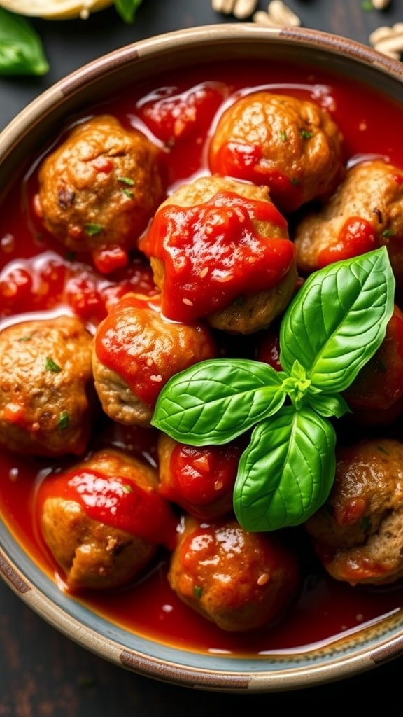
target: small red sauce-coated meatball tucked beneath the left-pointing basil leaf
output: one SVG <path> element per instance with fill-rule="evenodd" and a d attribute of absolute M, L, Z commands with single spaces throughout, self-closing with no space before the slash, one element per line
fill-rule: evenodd
<path fill-rule="evenodd" d="M 242 454 L 240 442 L 195 447 L 158 436 L 160 493 L 196 518 L 232 511 L 232 493 Z"/>

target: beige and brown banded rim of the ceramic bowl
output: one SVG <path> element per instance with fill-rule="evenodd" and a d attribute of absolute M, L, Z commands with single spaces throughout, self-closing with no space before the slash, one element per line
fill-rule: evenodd
<path fill-rule="evenodd" d="M 224 42 L 240 41 L 280 44 L 291 42 L 293 46 L 315 47 L 321 52 L 336 54 L 341 59 L 354 60 L 364 67 L 371 67 L 392 80 L 402 83 L 403 64 L 392 60 L 359 42 L 338 37 L 328 32 L 306 28 L 285 27 L 273 29 L 252 23 L 226 23 L 201 25 L 155 35 L 113 50 L 83 65 L 42 92 L 26 108 L 21 110 L 0 133 L 0 186 L 4 163 L 12 156 L 21 138 L 27 137 L 34 125 L 47 113 L 61 108 L 67 98 L 74 98 L 83 87 L 100 82 L 105 75 L 130 72 L 131 66 L 158 54 L 182 51 L 186 47 L 214 47 Z M 6 179 L 3 177 L 3 181 Z M 335 641 L 334 650 L 326 660 L 321 660 L 321 646 L 313 646 L 308 660 L 298 655 L 298 650 L 287 655 L 270 655 L 264 660 L 245 660 L 190 653 L 171 646 L 163 646 L 162 652 L 154 650 L 149 640 L 134 636 L 130 645 L 122 642 L 122 630 L 109 629 L 102 617 L 103 633 L 90 626 L 86 608 L 80 607 L 71 597 L 66 598 L 54 582 L 44 575 L 28 554 L 16 543 L 6 518 L 0 516 L 0 574 L 6 584 L 50 625 L 66 637 L 79 643 L 100 657 L 127 670 L 164 682 L 227 692 L 271 692 L 305 688 L 335 680 L 341 680 L 364 672 L 403 653 L 403 617 L 392 615 L 383 621 L 388 627 L 374 625 L 368 638 L 355 639 L 349 654 L 349 640 Z M 55 590 L 58 591 L 57 594 Z M 49 597 L 50 596 L 50 597 Z M 53 599 L 52 599 L 53 597 Z M 67 602 L 68 601 L 68 602 Z M 79 607 L 77 607 L 79 606 Z M 90 612 L 90 611 L 87 611 Z M 94 616 L 92 616 L 94 617 Z M 389 632 L 388 632 L 389 631 Z M 357 630 L 358 634 L 360 631 Z M 137 639 L 138 638 L 138 639 Z M 336 644 L 337 643 L 337 644 Z M 145 652 L 148 650 L 148 653 Z M 189 655 L 193 657 L 189 657 Z M 184 655 L 186 659 L 184 660 Z M 179 660 L 181 657 L 181 661 Z M 213 666 L 209 666 L 212 663 Z"/>

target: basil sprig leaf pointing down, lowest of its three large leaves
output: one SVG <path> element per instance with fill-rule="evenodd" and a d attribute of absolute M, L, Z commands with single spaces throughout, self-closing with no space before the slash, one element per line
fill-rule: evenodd
<path fill-rule="evenodd" d="M 242 454 L 234 511 L 247 531 L 297 526 L 331 490 L 336 458 L 331 423 L 309 408 L 283 407 L 260 423 Z"/>

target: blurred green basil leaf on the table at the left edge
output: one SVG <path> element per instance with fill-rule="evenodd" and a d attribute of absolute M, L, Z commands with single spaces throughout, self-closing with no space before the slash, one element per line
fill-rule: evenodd
<path fill-rule="evenodd" d="M 21 15 L 0 7 L 0 75 L 45 75 L 42 41 Z"/>

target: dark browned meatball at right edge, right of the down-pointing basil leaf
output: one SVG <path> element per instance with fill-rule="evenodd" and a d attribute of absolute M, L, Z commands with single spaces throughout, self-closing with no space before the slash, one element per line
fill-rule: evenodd
<path fill-rule="evenodd" d="M 339 447 L 328 500 L 307 521 L 336 580 L 387 583 L 403 576 L 403 444 L 366 439 Z"/>

